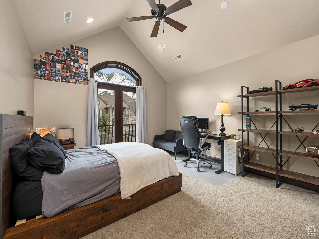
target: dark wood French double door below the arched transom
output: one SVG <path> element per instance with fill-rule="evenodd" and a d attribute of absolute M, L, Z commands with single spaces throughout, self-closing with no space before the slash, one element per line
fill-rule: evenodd
<path fill-rule="evenodd" d="M 98 83 L 100 143 L 136 141 L 134 86 Z"/>

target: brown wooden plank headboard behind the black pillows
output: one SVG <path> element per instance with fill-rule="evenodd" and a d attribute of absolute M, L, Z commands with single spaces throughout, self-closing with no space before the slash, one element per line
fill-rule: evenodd
<path fill-rule="evenodd" d="M 8 227 L 14 226 L 13 192 L 16 174 L 11 169 L 10 148 L 30 137 L 33 132 L 33 118 L 30 116 L 0 114 L 0 236 L 3 238 Z"/>

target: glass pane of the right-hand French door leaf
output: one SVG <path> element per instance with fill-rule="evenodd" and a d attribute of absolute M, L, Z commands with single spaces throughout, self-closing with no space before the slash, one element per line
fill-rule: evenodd
<path fill-rule="evenodd" d="M 135 142 L 135 93 L 123 92 L 123 142 Z"/>

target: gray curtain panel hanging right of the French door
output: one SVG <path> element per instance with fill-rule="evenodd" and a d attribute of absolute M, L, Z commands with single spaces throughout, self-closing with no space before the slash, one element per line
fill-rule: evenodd
<path fill-rule="evenodd" d="M 147 144 L 145 87 L 136 88 L 136 141 Z"/>

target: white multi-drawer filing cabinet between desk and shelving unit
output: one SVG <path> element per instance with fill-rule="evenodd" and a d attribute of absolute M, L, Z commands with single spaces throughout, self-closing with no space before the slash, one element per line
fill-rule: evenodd
<path fill-rule="evenodd" d="M 225 172 L 233 173 L 235 175 L 241 173 L 241 166 L 237 163 L 238 146 L 241 145 L 241 140 L 225 140 L 225 158 L 224 170 Z"/>

